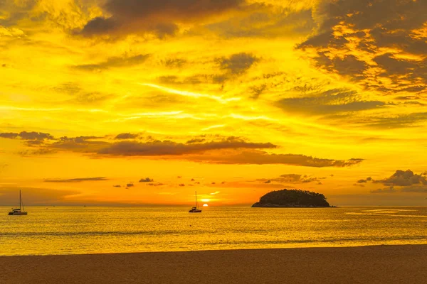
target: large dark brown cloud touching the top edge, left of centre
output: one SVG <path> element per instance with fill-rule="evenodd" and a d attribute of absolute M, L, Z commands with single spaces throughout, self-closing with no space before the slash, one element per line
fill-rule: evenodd
<path fill-rule="evenodd" d="M 81 35 L 154 33 L 160 38 L 174 35 L 181 23 L 196 23 L 236 9 L 244 0 L 107 0 L 105 15 L 88 21 Z"/>

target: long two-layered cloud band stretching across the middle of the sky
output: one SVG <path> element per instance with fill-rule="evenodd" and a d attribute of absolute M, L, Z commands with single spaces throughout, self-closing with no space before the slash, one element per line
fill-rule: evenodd
<path fill-rule="evenodd" d="M 116 136 L 117 137 L 117 136 Z M 121 138 L 133 137 L 132 134 L 119 134 Z M 218 136 L 221 138 L 221 136 Z M 218 137 L 216 137 L 218 139 Z M 162 157 L 162 158 L 184 158 L 186 160 L 206 163 L 223 164 L 284 164 L 303 165 L 307 167 L 348 167 L 357 165 L 363 159 L 334 160 L 315 158 L 299 154 L 275 154 L 260 151 L 260 149 L 274 149 L 278 146 L 273 143 L 253 143 L 243 138 L 229 136 L 221 140 L 206 141 L 194 138 L 186 143 L 170 140 L 159 141 L 119 141 L 110 143 L 107 141 L 96 141 L 105 137 L 79 136 L 60 137 L 56 142 L 41 144 L 38 148 L 41 152 L 57 149 L 70 152 L 92 153 L 100 157 L 112 156 L 140 156 L 140 157 Z M 93 141 L 95 140 L 95 141 Z"/>

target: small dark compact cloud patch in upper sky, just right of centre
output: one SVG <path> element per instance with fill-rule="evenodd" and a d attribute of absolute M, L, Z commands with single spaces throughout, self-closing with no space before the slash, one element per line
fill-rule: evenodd
<path fill-rule="evenodd" d="M 236 53 L 229 58 L 218 59 L 218 64 L 231 75 L 241 75 L 258 61 L 259 58 L 249 53 Z"/>

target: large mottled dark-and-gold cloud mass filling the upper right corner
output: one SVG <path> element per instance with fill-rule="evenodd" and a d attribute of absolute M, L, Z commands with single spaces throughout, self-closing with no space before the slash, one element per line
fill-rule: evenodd
<path fill-rule="evenodd" d="M 320 1 L 319 28 L 297 48 L 317 67 L 385 94 L 427 87 L 427 2 Z M 344 55 L 345 54 L 345 55 Z"/>

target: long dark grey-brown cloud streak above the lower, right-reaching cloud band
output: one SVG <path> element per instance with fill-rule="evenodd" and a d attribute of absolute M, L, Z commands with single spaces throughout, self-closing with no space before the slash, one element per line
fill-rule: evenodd
<path fill-rule="evenodd" d="M 114 143 L 107 148 L 102 148 L 97 153 L 102 155 L 184 155 L 204 151 L 228 149 L 228 148 L 276 148 L 272 143 L 251 143 L 238 138 L 230 137 L 223 141 L 211 141 L 206 143 L 176 143 L 174 141 L 135 142 L 122 141 Z"/>

